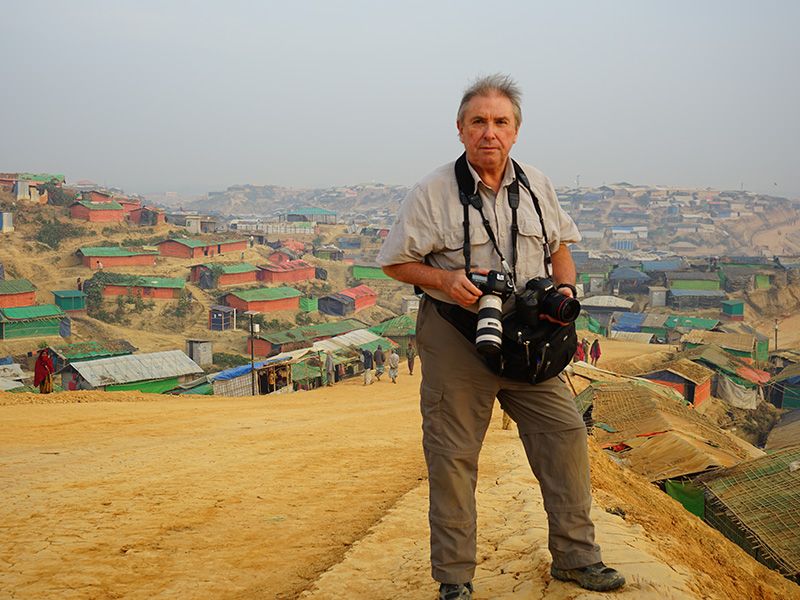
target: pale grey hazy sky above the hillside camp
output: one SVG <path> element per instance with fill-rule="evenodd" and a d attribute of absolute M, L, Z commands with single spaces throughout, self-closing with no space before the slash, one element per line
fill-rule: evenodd
<path fill-rule="evenodd" d="M 129 192 L 410 184 L 510 73 L 556 185 L 800 195 L 800 2 L 3 4 L 0 171 Z"/>

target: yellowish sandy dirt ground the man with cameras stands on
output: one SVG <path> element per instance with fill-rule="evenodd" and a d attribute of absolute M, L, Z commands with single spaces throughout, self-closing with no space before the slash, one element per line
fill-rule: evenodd
<path fill-rule="evenodd" d="M 432 598 L 418 389 L 403 372 L 277 397 L 0 395 L 0 597 Z M 551 580 L 535 481 L 495 416 L 476 599 L 609 597 Z M 615 597 L 800 597 L 597 450 L 593 480 L 630 582 Z"/>

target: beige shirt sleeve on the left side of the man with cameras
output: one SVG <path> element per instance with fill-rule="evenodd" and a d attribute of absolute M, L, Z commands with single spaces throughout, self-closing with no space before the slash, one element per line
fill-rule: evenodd
<path fill-rule="evenodd" d="M 424 262 L 428 254 L 441 248 L 441 233 L 434 223 L 427 196 L 416 185 L 403 200 L 397 220 L 378 253 L 378 264 L 382 267 Z"/>

